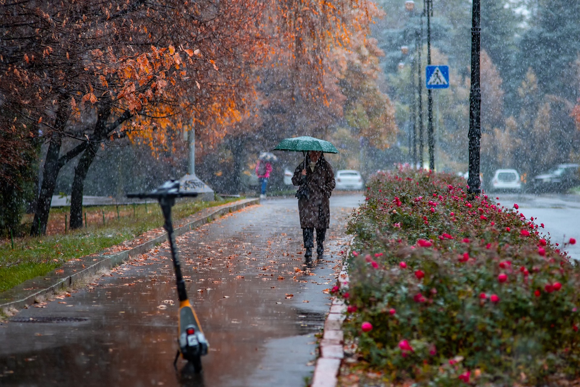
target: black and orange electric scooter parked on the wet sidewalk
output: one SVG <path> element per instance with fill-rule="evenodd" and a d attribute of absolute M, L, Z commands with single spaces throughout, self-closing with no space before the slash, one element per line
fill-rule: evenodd
<path fill-rule="evenodd" d="M 171 258 L 173 269 L 175 269 L 175 279 L 177 284 L 177 297 L 179 298 L 179 314 L 177 319 L 177 343 L 179 349 L 173 360 L 173 367 L 176 367 L 179 356 L 189 361 L 195 372 L 201 372 L 201 356 L 208 353 L 208 341 L 205 338 L 204 331 L 201 329 L 200 320 L 198 320 L 195 310 L 189 302 L 185 281 L 183 280 L 179 256 L 177 256 L 177 247 L 175 244 L 175 233 L 171 220 L 171 208 L 175 204 L 177 197 L 195 197 L 198 193 L 188 190 L 180 185 L 179 180 L 168 180 L 157 189 L 149 193 L 127 194 L 132 198 L 154 198 L 159 201 L 161 211 L 165 218 L 164 228 L 167 232 L 169 246 L 171 247 Z"/>

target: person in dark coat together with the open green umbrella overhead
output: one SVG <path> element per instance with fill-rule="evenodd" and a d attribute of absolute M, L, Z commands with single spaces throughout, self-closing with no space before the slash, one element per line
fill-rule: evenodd
<path fill-rule="evenodd" d="M 306 252 L 306 259 L 311 258 L 314 247 L 314 229 L 316 229 L 316 252 L 324 252 L 324 238 L 330 225 L 330 201 L 336 182 L 334 172 L 323 153 L 338 153 L 335 146 L 325 140 L 310 136 L 282 140 L 274 150 L 302 152 L 305 157 L 294 171 L 292 184 L 300 186 L 296 191 L 300 227 Z"/>

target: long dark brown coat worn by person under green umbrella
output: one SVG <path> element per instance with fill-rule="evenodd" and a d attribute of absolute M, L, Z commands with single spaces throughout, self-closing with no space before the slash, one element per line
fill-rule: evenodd
<path fill-rule="evenodd" d="M 306 176 L 302 175 L 302 169 L 306 169 Z M 314 172 L 310 169 L 308 161 L 301 162 L 294 171 L 292 184 L 295 186 L 306 185 L 309 188 L 309 198 L 298 200 L 298 212 L 300 214 L 300 227 L 303 229 L 313 227 L 315 229 L 328 229 L 330 223 L 329 198 L 336 182 L 332 167 L 324 156 L 321 155 L 314 165 Z"/>

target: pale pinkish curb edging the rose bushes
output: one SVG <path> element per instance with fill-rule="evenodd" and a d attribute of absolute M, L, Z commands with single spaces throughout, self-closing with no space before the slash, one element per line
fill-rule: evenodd
<path fill-rule="evenodd" d="M 354 239 L 354 237 L 353 237 Z M 345 257 L 349 256 L 350 240 Z M 348 265 L 343 262 L 338 276 L 340 288 L 349 281 Z M 333 298 L 326 321 L 324 322 L 324 334 L 320 341 L 320 356 L 314 366 L 314 375 L 310 387 L 335 387 L 338 382 L 340 364 L 345 357 L 343 345 L 345 335 L 342 331 L 342 323 L 345 320 L 346 305 L 342 299 Z"/>

